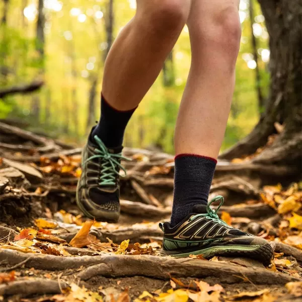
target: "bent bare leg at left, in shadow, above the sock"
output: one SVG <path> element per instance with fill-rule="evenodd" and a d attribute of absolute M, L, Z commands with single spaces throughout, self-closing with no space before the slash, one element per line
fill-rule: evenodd
<path fill-rule="evenodd" d="M 191 0 L 137 0 L 135 17 L 108 54 L 102 93 L 114 108 L 135 108 L 158 77 L 189 16 Z"/>

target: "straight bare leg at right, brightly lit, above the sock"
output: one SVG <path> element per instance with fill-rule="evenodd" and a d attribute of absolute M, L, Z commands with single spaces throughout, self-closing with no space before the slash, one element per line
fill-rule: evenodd
<path fill-rule="evenodd" d="M 192 62 L 175 130 L 176 154 L 216 159 L 235 84 L 240 0 L 192 0 Z"/>

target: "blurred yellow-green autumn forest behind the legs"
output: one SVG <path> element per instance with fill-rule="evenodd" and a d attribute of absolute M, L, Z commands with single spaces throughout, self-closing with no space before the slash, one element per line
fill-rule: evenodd
<path fill-rule="evenodd" d="M 133 17 L 135 0 L 2 0 L 0 12 L 0 87 L 43 82 L 33 93 L 0 97 L 0 119 L 22 121 L 37 133 L 84 143 L 100 114 L 104 60 Z M 241 0 L 239 14 L 237 82 L 221 150 L 250 133 L 269 91 L 269 35 L 258 2 Z M 126 146 L 174 152 L 174 125 L 189 68 L 185 26 L 127 126 Z"/>

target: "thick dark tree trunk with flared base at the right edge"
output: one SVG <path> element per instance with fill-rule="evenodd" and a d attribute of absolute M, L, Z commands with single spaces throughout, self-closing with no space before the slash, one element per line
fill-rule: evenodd
<path fill-rule="evenodd" d="M 254 130 L 220 159 L 253 154 L 277 133 L 275 123 L 284 129 L 254 163 L 301 167 L 302 154 L 302 8 L 300 0 L 259 0 L 270 37 L 270 96 L 266 110 Z M 299 168 L 300 169 L 300 168 Z"/>

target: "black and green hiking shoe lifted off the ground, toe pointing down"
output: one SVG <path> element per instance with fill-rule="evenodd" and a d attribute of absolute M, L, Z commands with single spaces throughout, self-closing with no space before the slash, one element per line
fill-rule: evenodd
<path fill-rule="evenodd" d="M 82 174 L 77 187 L 77 204 L 82 212 L 99 221 L 117 222 L 120 214 L 119 177 L 122 146 L 108 149 L 95 135 L 82 154 Z"/>

